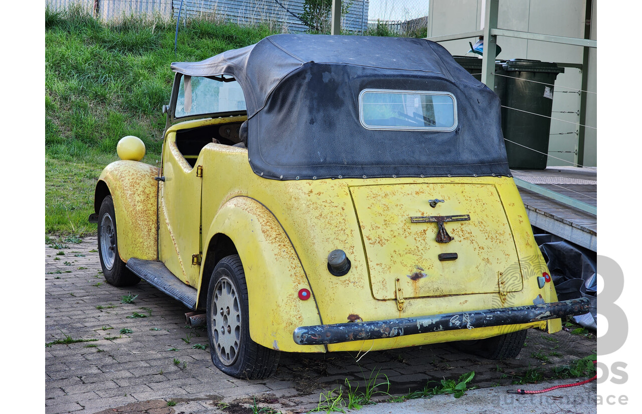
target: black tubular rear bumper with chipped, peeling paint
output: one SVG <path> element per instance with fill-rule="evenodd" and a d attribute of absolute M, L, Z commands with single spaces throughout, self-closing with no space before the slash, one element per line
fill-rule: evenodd
<path fill-rule="evenodd" d="M 428 332 L 454 331 L 455 329 L 519 325 L 582 315 L 589 311 L 590 306 L 591 303 L 587 298 L 580 298 L 541 305 L 500 307 L 483 311 L 442 313 L 415 318 L 301 326 L 294 330 L 294 341 L 299 345 L 324 345 Z"/>

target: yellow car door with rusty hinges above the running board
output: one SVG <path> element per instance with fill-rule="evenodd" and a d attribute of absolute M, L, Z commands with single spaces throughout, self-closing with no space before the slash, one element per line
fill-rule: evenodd
<path fill-rule="evenodd" d="M 201 254 L 202 166 L 196 162 L 187 162 L 178 150 L 176 132 L 168 132 L 159 189 L 159 259 L 191 286 L 198 282 Z"/>

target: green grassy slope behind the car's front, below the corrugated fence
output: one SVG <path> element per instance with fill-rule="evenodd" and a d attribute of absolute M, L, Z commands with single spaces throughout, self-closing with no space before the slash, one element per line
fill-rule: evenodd
<path fill-rule="evenodd" d="M 207 20 L 175 22 L 125 19 L 103 24 L 76 8 L 45 12 L 45 142 L 47 234 L 83 235 L 100 171 L 116 160 L 125 135 L 140 137 L 144 162 L 160 157 L 171 62 L 209 58 L 254 44 L 275 33 Z"/>

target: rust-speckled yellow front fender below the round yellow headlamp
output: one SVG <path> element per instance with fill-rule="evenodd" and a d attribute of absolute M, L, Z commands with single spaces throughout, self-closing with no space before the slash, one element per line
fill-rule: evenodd
<path fill-rule="evenodd" d="M 126 262 L 131 257 L 158 259 L 157 196 L 154 177 L 158 168 L 138 161 L 119 160 L 109 164 L 98 178 L 94 210 L 111 194 L 116 212 L 118 254 Z M 98 217 L 100 225 L 100 217 Z"/>

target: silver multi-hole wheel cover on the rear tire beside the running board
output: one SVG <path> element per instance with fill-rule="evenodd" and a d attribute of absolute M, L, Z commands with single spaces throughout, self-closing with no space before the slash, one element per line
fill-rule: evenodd
<path fill-rule="evenodd" d="M 227 276 L 214 286 L 209 318 L 216 355 L 223 364 L 232 365 L 241 343 L 241 309 L 236 288 Z"/>

